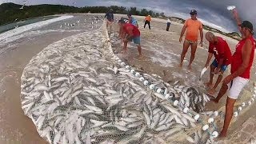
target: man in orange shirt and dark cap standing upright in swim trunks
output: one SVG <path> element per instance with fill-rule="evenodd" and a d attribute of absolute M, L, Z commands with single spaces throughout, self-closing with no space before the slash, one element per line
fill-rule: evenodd
<path fill-rule="evenodd" d="M 181 63 L 179 66 L 182 67 L 183 60 L 186 56 L 186 52 L 187 52 L 188 48 L 191 47 L 190 63 L 188 65 L 189 70 L 191 70 L 191 65 L 192 65 L 192 62 L 194 61 L 194 54 L 198 47 L 198 31 L 200 31 L 200 37 L 201 37 L 200 44 L 202 46 L 202 38 L 203 38 L 202 22 L 200 22 L 197 19 L 197 14 L 198 13 L 196 10 L 190 11 L 191 18 L 187 19 L 186 22 L 184 23 L 184 26 L 182 28 L 182 33 L 179 38 L 179 42 L 182 42 L 183 34 L 186 31 L 186 38 L 183 43 L 183 50 L 182 50 L 182 54 L 181 54 Z"/>

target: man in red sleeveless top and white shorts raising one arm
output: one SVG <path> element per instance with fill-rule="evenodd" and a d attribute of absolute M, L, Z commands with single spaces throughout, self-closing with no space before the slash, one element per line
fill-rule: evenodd
<path fill-rule="evenodd" d="M 231 74 L 223 80 L 222 88 L 218 93 L 218 97 L 213 101 L 218 103 L 222 96 L 228 91 L 226 98 L 226 113 L 224 126 L 220 137 L 226 137 L 227 129 L 230 125 L 233 116 L 234 102 L 238 98 L 240 92 L 246 86 L 250 79 L 250 69 L 254 62 L 254 47 L 253 38 L 254 28 L 251 22 L 241 22 L 238 18 L 237 10 L 233 10 L 234 18 L 238 23 L 238 29 L 242 34 L 242 40 L 238 42 L 235 52 L 232 56 Z"/>

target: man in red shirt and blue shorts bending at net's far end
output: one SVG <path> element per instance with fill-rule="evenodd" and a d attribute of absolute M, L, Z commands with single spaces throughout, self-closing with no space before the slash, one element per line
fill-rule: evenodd
<path fill-rule="evenodd" d="M 122 28 L 122 41 L 124 42 L 123 46 L 123 54 L 127 54 L 127 43 L 134 41 L 136 46 L 138 47 L 139 57 L 142 57 L 142 47 L 141 47 L 141 38 L 140 31 L 136 26 L 131 23 L 126 23 L 123 20 L 118 21 L 118 25 Z"/>

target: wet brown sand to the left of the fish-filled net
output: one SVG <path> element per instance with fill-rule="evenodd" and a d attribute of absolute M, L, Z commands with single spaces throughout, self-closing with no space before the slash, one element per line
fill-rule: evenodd
<path fill-rule="evenodd" d="M 72 21 L 69 19 L 69 21 Z M 76 22 L 73 19 L 74 22 Z M 62 22 L 63 23 L 63 22 Z M 42 29 L 47 29 L 42 27 Z M 50 27 L 48 29 L 51 29 Z M 71 28 L 69 28 L 71 29 Z M 74 28 L 75 29 L 75 28 Z M 88 29 L 88 30 L 95 30 Z M 45 144 L 30 118 L 21 109 L 20 78 L 26 64 L 34 55 L 53 42 L 79 34 L 81 31 L 56 31 L 33 38 L 20 38 L 6 44 L 8 50 L 0 55 L 0 143 Z M 6 48 L 0 47 L 0 49 Z"/>

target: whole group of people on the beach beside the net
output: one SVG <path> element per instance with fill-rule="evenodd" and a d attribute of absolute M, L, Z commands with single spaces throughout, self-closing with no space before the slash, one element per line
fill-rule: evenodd
<path fill-rule="evenodd" d="M 179 66 L 182 67 L 186 52 L 189 47 L 191 47 L 190 62 L 188 65 L 189 70 L 192 69 L 192 62 L 194 61 L 195 53 L 198 47 L 199 33 L 200 46 L 202 46 L 203 42 L 202 22 L 198 20 L 197 14 L 198 13 L 196 10 L 190 11 L 191 18 L 187 19 L 184 23 L 179 38 L 179 42 L 182 42 L 183 35 L 186 32 Z M 219 91 L 217 98 L 212 98 L 213 102 L 218 103 L 218 101 L 222 98 L 224 94 L 226 94 L 226 91 L 228 90 L 224 126 L 221 134 L 219 135 L 220 137 L 226 137 L 227 129 L 233 116 L 234 102 L 236 102 L 236 99 L 238 98 L 244 86 L 246 86 L 246 84 L 249 82 L 250 69 L 254 61 L 255 42 L 253 38 L 253 25 L 249 21 L 241 22 L 238 18 L 238 12 L 236 10 L 233 10 L 233 15 L 238 24 L 238 29 L 242 34 L 242 40 L 238 42 L 238 45 L 235 47 L 235 52 L 233 55 L 231 54 L 230 47 L 224 38 L 215 36 L 211 32 L 206 33 L 206 40 L 209 42 L 209 50 L 205 67 L 209 66 L 210 60 L 214 56 L 214 61 L 210 65 L 210 81 L 206 83 L 206 86 L 209 87 L 208 93 L 210 95 L 213 95 L 216 92 L 218 84 L 222 82 L 222 88 Z M 128 18 L 121 18 L 118 21 L 118 25 L 120 26 L 119 38 L 122 38 L 122 42 L 124 43 L 122 53 L 126 54 L 127 43 L 134 41 L 134 43 L 138 46 L 139 56 L 142 56 L 138 22 L 135 18 L 131 16 L 131 14 L 128 14 L 127 16 Z M 151 17 L 150 15 L 148 15 L 145 18 L 144 28 L 146 24 L 148 24 L 150 28 L 150 22 Z M 167 20 L 166 31 L 168 31 L 169 28 L 170 19 Z M 222 81 L 223 74 L 226 71 L 227 66 L 229 65 L 231 65 L 230 74 Z M 218 78 L 213 85 L 214 75 L 218 75 Z"/>

